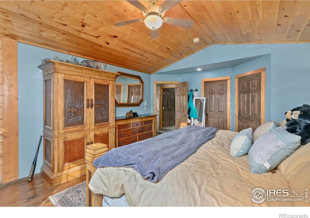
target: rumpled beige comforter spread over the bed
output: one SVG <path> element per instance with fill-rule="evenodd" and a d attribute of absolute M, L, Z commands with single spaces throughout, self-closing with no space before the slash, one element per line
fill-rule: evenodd
<path fill-rule="evenodd" d="M 255 203 L 254 188 L 290 189 L 278 169 L 251 173 L 248 155 L 230 156 L 230 143 L 237 132 L 218 130 L 183 163 L 157 182 L 148 182 L 132 168 L 99 168 L 89 187 L 94 193 L 126 195 L 131 206 L 309 206 L 304 202 L 264 201 Z"/>

